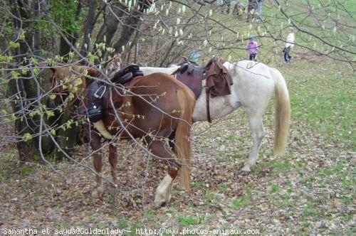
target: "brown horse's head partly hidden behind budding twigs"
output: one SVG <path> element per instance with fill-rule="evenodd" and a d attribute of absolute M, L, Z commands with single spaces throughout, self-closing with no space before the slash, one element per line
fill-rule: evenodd
<path fill-rule="evenodd" d="M 88 84 L 88 76 L 99 75 L 98 70 L 77 65 L 51 68 L 51 71 L 51 90 L 52 95 L 56 95 L 53 100 L 56 105 L 62 105 L 68 97 L 73 100 Z"/>

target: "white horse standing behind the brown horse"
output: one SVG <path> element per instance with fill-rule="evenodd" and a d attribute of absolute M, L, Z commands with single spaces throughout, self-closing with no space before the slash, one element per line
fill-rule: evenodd
<path fill-rule="evenodd" d="M 251 60 L 242 60 L 238 63 L 224 63 L 234 82 L 231 86 L 231 95 L 210 97 L 211 119 L 224 117 L 239 107 L 244 108 L 252 133 L 252 148 L 248 160 L 241 171 L 250 172 L 255 165 L 261 141 L 265 135 L 263 128 L 263 114 L 268 102 L 275 94 L 275 137 L 273 153 L 282 156 L 288 137 L 290 122 L 289 92 L 281 73 L 263 63 L 255 63 Z M 144 75 L 162 72 L 172 74 L 179 70 L 179 66 L 173 68 L 140 67 Z M 193 113 L 194 122 L 207 121 L 206 92 L 203 89 L 197 100 Z"/>

